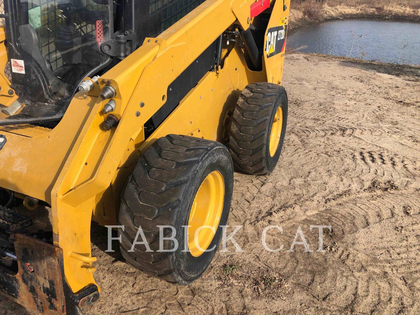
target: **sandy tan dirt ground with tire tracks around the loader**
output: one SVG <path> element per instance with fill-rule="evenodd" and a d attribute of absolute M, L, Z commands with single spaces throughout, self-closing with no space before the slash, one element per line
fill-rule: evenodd
<path fill-rule="evenodd" d="M 228 224 L 243 226 L 243 252 L 229 243 L 199 280 L 174 286 L 105 252 L 106 230 L 95 225 L 102 293 L 90 313 L 418 313 L 419 79 L 416 70 L 287 55 L 280 161 L 270 176 L 234 176 Z M 262 247 L 269 225 L 283 228 L 267 234 L 269 247 L 284 245 L 278 252 Z M 325 252 L 311 225 L 332 226 Z M 312 252 L 287 252 L 299 226 Z M 27 312 L 0 297 L 0 313 Z"/>

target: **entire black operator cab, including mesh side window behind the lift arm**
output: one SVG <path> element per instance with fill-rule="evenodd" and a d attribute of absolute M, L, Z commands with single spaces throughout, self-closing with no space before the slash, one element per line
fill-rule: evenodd
<path fill-rule="evenodd" d="M 102 75 L 204 1 L 4 0 L 0 87 L 18 99 L 0 88 L 0 126 L 53 128 L 84 78 Z"/>

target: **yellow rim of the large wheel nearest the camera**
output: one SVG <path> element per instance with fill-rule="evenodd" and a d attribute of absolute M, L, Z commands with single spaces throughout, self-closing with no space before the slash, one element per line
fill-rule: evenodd
<path fill-rule="evenodd" d="M 189 214 L 188 249 L 194 257 L 202 255 L 210 246 L 220 222 L 224 198 L 223 176 L 213 171 L 201 183 Z"/>

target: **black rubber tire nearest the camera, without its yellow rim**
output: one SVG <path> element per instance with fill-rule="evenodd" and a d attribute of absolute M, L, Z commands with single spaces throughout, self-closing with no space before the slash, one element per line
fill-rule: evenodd
<path fill-rule="evenodd" d="M 184 228 L 189 225 L 190 210 L 201 184 L 210 173 L 223 178 L 220 195 L 220 221 L 208 249 L 194 257 L 184 238 Z M 220 176 L 218 175 L 218 178 Z M 168 135 L 157 139 L 140 157 L 127 181 L 121 200 L 118 220 L 121 253 L 126 261 L 157 278 L 171 283 L 188 284 L 199 278 L 210 264 L 222 237 L 232 199 L 233 165 L 228 150 L 218 142 L 189 136 Z M 203 189 L 204 190 L 204 189 Z M 174 252 L 157 252 L 159 227 L 173 226 L 178 249 Z M 146 252 L 144 244 L 136 244 L 129 252 L 138 229 L 141 229 L 153 252 Z M 171 228 L 164 229 L 171 236 Z M 137 241 L 142 241 L 141 236 Z M 174 241 L 165 240 L 163 249 L 172 249 Z M 204 249 L 204 246 L 203 246 Z"/>

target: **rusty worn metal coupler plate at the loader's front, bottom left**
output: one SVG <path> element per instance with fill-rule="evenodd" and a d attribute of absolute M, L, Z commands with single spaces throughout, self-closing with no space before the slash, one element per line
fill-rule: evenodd
<path fill-rule="evenodd" d="M 97 286 L 73 293 L 67 285 L 63 249 L 24 234 L 14 238 L 18 271 L 0 264 L 0 294 L 42 314 L 82 314 L 97 301 Z"/>

